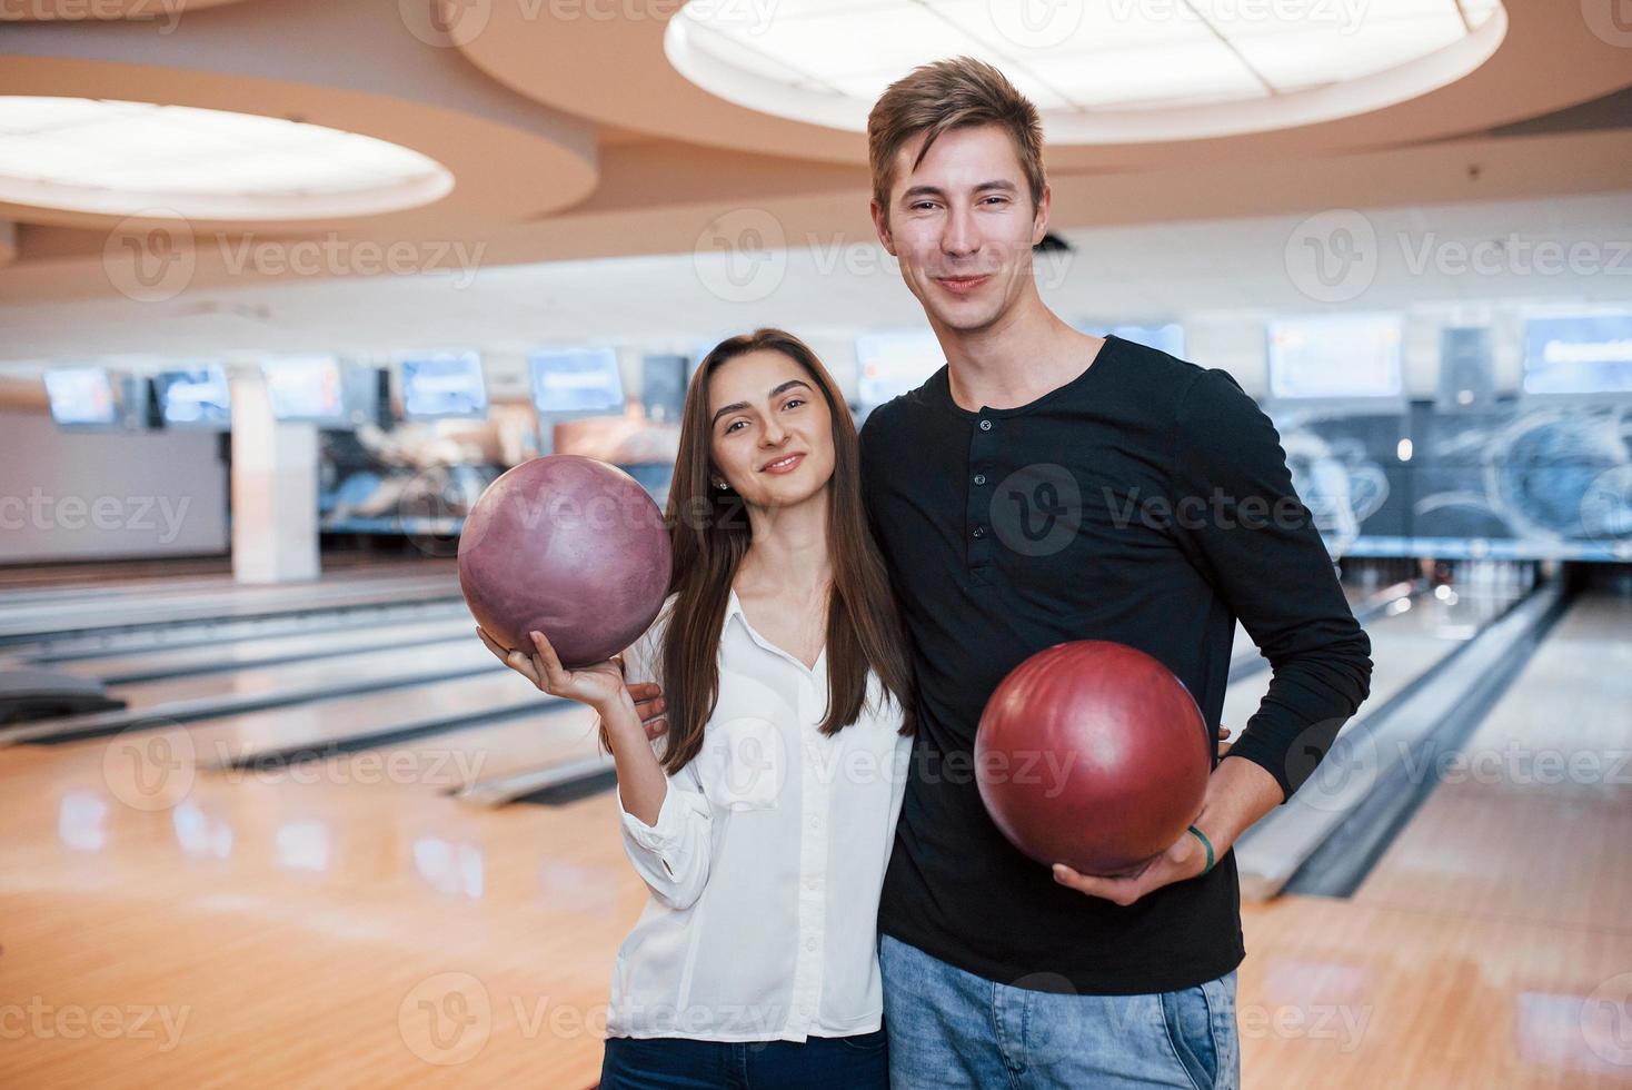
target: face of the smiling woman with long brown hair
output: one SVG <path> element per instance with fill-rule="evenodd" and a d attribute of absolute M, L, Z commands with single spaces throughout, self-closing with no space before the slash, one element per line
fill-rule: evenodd
<path fill-rule="evenodd" d="M 790 507 L 832 478 L 832 413 L 816 380 L 793 359 L 762 349 L 720 366 L 708 379 L 710 450 L 744 501 Z"/>

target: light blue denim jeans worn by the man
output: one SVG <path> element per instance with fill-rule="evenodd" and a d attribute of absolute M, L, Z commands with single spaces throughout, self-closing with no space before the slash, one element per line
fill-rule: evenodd
<path fill-rule="evenodd" d="M 1234 969 L 1177 992 L 1074 995 L 997 984 L 889 935 L 878 964 L 896 1090 L 1240 1087 Z"/>

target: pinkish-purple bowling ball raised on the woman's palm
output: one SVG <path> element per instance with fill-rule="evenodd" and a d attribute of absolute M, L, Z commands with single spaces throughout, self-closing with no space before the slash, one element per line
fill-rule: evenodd
<path fill-rule="evenodd" d="M 656 618 L 669 587 L 663 512 L 623 470 L 571 454 L 506 472 L 459 537 L 459 586 L 490 636 L 568 667 L 601 662 Z"/>

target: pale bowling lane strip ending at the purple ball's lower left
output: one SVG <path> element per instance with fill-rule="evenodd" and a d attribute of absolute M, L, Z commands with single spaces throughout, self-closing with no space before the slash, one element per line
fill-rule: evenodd
<path fill-rule="evenodd" d="M 377 645 L 375 645 L 377 646 Z M 353 654 L 333 654 L 318 661 L 286 662 L 224 674 L 196 674 L 191 677 L 166 677 L 129 685 L 109 685 L 108 695 L 131 703 L 132 711 L 163 708 L 181 700 L 209 700 L 215 697 L 258 697 L 284 690 L 313 690 L 328 685 L 343 687 L 362 679 L 380 680 L 400 677 L 403 684 L 426 672 L 504 666 L 475 638 L 462 635 L 457 640 L 406 648 L 369 649 Z"/>

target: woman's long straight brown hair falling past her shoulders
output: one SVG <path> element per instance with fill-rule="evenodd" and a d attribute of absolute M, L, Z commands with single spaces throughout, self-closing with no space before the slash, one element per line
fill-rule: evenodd
<path fill-rule="evenodd" d="M 669 486 L 667 522 L 674 542 L 676 594 L 661 653 L 663 698 L 669 720 L 663 767 L 674 775 L 703 746 L 703 728 L 720 700 L 720 638 L 731 581 L 752 540 L 747 511 L 734 491 L 710 488 L 715 472 L 708 380 L 747 352 L 782 352 L 803 367 L 827 400 L 834 468 L 827 494 L 827 548 L 832 591 L 827 599 L 827 711 L 823 734 L 855 723 L 871 669 L 904 710 L 902 734 L 912 733 L 912 669 L 889 574 L 862 506 L 862 454 L 855 419 L 837 383 L 805 341 L 782 330 L 756 330 L 715 346 L 697 366 L 681 416 L 681 447 Z"/>

